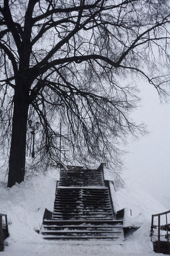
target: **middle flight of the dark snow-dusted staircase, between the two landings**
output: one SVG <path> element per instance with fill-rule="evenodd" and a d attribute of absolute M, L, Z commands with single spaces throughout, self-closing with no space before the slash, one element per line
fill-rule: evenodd
<path fill-rule="evenodd" d="M 112 220 L 108 188 L 57 188 L 52 218 Z"/>

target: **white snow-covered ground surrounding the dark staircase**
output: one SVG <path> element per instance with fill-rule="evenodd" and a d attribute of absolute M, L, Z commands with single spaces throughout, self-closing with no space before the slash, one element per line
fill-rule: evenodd
<path fill-rule="evenodd" d="M 124 226 L 140 227 L 125 241 L 45 241 L 35 230 L 42 226 L 44 209 L 53 211 L 58 171 L 53 169 L 46 177 L 29 177 L 11 189 L 6 187 L 4 176 L 0 174 L 0 213 L 7 214 L 10 233 L 5 240 L 8 246 L 0 256 L 155 255 L 150 237 L 151 217 L 169 209 L 145 193 L 126 174 L 119 177 L 106 172 L 105 179 L 114 181 L 115 189 L 111 185 L 114 211 L 125 208 Z M 165 224 L 163 219 L 161 224 Z"/>

